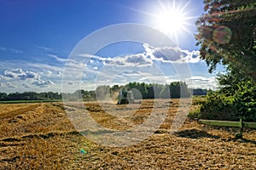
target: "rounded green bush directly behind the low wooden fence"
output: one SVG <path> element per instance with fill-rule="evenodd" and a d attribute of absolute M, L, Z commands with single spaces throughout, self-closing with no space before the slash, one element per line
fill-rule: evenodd
<path fill-rule="evenodd" d="M 207 94 L 202 102 L 201 119 L 256 122 L 256 89 L 252 82 L 241 82 L 235 93 L 222 91 Z"/>

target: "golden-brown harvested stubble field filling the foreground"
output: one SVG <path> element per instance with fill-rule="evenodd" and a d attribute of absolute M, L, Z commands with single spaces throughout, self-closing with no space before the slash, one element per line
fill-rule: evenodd
<path fill-rule="evenodd" d="M 234 139 L 237 129 L 206 127 L 187 119 L 171 134 L 173 117 L 188 106 L 176 99 L 157 105 L 143 100 L 142 105 L 128 107 L 85 103 L 90 117 L 117 131 L 142 124 L 153 109 L 157 114 L 167 111 L 165 121 L 147 139 L 109 147 L 84 138 L 73 127 L 66 111 L 71 116 L 82 111 L 77 103 L 66 110 L 61 103 L 2 104 L 0 169 L 256 169 L 255 131 L 246 130 L 244 139 Z"/>

